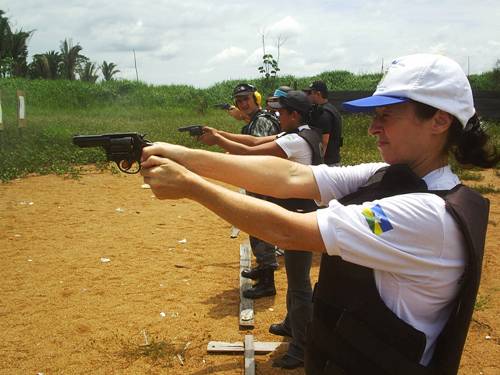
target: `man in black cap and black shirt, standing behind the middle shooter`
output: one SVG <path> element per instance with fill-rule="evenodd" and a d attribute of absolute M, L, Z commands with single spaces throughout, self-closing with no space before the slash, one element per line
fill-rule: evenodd
<path fill-rule="evenodd" d="M 342 146 L 342 117 L 332 103 L 328 101 L 328 88 L 323 81 L 314 81 L 304 90 L 309 99 L 323 108 L 323 115 L 314 123 L 323 133 L 323 150 L 325 164 L 340 164 L 340 147 Z"/>

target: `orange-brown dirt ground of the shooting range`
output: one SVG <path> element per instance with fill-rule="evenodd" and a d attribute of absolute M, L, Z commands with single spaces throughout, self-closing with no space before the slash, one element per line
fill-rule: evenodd
<path fill-rule="evenodd" d="M 484 183 L 498 186 L 498 177 Z M 209 341 L 277 341 L 278 294 L 238 327 L 239 245 L 231 226 L 187 200 L 158 201 L 139 176 L 87 170 L 0 184 L 0 374 L 242 374 L 242 355 L 207 354 Z M 460 374 L 500 374 L 500 195 L 490 226 L 478 309 Z M 280 259 L 281 263 L 283 260 Z M 312 278 L 317 278 L 319 257 Z M 257 374 L 277 370 L 256 357 Z"/>

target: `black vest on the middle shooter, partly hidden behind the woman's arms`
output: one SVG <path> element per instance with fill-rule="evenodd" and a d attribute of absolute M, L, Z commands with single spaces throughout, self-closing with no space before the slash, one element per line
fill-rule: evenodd
<path fill-rule="evenodd" d="M 323 163 L 323 156 L 321 155 L 320 145 L 321 145 L 321 133 L 316 128 L 303 128 L 301 130 L 295 129 L 293 131 L 287 132 L 286 134 L 295 133 L 302 139 L 304 139 L 312 151 L 311 165 L 319 165 Z M 301 199 L 301 198 L 269 198 L 270 202 L 276 203 L 277 205 L 286 208 L 289 211 L 295 212 L 313 212 L 318 209 L 316 203 L 311 199 Z"/>

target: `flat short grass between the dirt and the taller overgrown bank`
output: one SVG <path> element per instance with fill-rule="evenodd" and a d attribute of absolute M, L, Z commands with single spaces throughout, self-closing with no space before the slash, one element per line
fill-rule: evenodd
<path fill-rule="evenodd" d="M 209 148 L 177 128 L 187 124 L 203 124 L 239 132 L 243 123 L 223 111 L 208 110 L 198 114 L 189 109 L 121 108 L 92 110 L 59 110 L 51 114 L 41 111 L 28 117 L 28 127 L 7 127 L 0 139 L 0 179 L 9 181 L 31 173 L 68 174 L 76 176 L 74 166 L 106 163 L 100 148 L 79 148 L 72 143 L 76 134 L 139 132 L 150 141 L 166 141 L 188 147 Z M 378 161 L 374 140 L 367 136 L 369 118 L 350 116 L 344 119 L 342 158 L 345 164 Z M 216 148 L 212 148 L 217 150 Z"/>

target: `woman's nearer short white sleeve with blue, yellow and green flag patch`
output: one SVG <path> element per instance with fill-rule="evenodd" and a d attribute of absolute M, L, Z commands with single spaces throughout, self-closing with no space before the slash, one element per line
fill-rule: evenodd
<path fill-rule="evenodd" d="M 316 215 L 329 255 L 386 272 L 430 274 L 444 249 L 445 233 L 461 238 L 444 200 L 430 193 L 361 205 L 332 201 Z"/>

